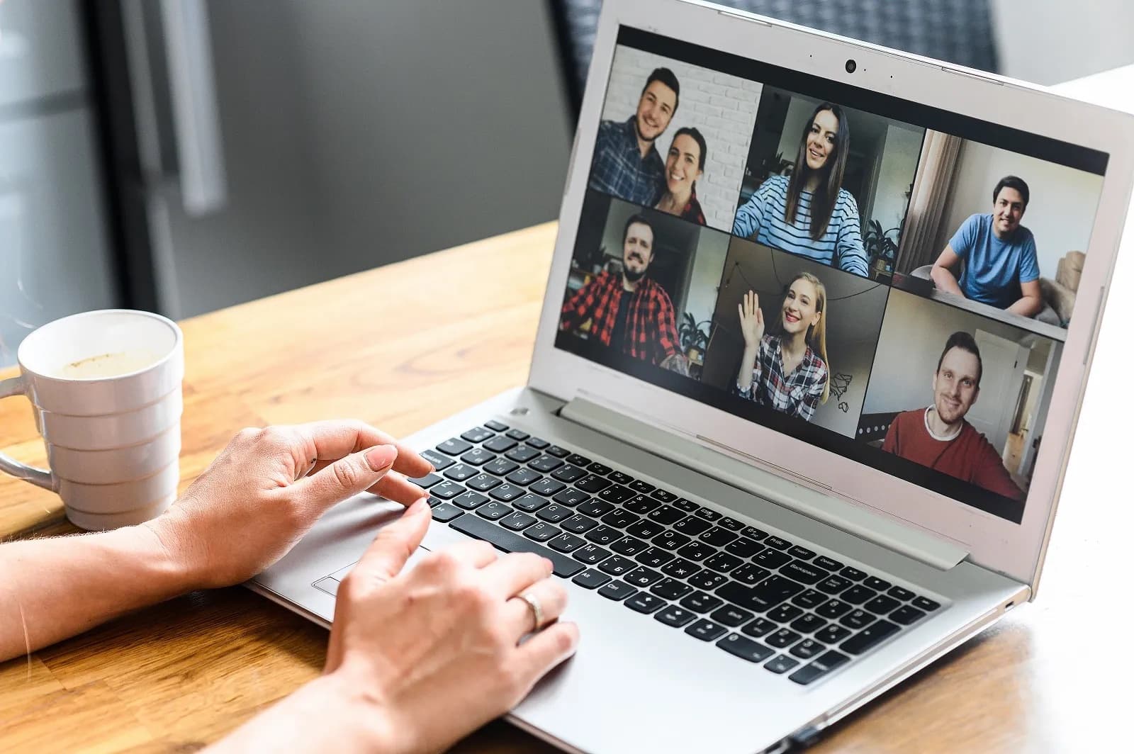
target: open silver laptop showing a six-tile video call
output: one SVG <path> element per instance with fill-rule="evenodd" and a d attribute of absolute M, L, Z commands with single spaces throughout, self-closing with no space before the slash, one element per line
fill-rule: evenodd
<path fill-rule="evenodd" d="M 1132 175 L 1126 115 L 607 0 L 527 384 L 407 440 L 423 551 L 535 551 L 570 594 L 579 651 L 508 719 L 781 752 L 1031 601 Z M 249 586 L 330 626 L 396 509 Z"/>

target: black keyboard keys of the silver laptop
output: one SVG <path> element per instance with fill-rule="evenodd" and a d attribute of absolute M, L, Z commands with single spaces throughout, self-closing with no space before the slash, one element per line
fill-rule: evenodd
<path fill-rule="evenodd" d="M 801 685 L 941 607 L 499 422 L 422 455 L 435 520 Z"/>

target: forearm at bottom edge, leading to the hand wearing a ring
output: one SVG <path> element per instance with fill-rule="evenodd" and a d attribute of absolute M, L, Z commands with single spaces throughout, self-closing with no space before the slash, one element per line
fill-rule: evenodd
<path fill-rule="evenodd" d="M 337 672 L 321 676 L 205 751 L 235 754 L 412 749 L 408 742 L 395 740 L 396 731 L 382 714 L 381 706 L 357 693 L 363 687 Z"/>

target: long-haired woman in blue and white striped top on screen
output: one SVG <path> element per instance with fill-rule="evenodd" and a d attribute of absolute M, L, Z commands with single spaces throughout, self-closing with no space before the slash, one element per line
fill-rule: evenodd
<path fill-rule="evenodd" d="M 790 176 L 771 176 L 736 211 L 733 235 L 866 277 L 858 205 L 843 188 L 850 125 L 823 102 L 799 138 Z"/>

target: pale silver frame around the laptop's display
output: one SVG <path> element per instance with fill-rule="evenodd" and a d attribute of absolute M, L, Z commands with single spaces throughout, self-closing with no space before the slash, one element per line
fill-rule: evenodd
<path fill-rule="evenodd" d="M 1067 331 L 1048 409 L 1047 441 L 1036 457 L 1019 524 L 555 347 L 607 78 L 623 25 L 747 58 L 754 58 L 747 51 L 760 50 L 756 59 L 763 62 L 992 124 L 1001 122 L 1004 112 L 1015 112 L 1021 121 L 1035 125 L 1027 128 L 1031 133 L 1109 153 L 1076 316 Z M 853 74 L 845 69 L 848 58 L 857 61 Z M 1106 285 L 1117 259 L 1132 172 L 1134 118 L 1125 113 L 716 6 L 679 0 L 607 0 L 575 135 L 528 383 L 564 400 L 581 393 L 606 398 L 689 438 L 708 439 L 787 468 L 845 500 L 960 543 L 968 550 L 970 560 L 1034 585 L 1070 451 Z"/>

